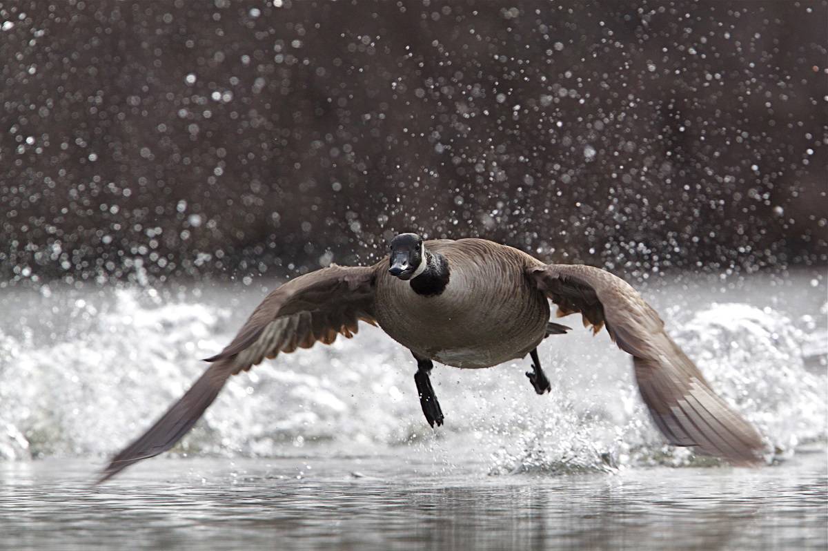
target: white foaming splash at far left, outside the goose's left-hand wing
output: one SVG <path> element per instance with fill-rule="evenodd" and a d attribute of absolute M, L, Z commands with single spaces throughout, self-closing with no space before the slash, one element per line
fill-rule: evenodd
<path fill-rule="evenodd" d="M 132 404 L 158 410 L 185 389 L 181 366 L 193 351 L 213 347 L 220 312 L 199 304 L 146 307 L 139 295 L 114 292 L 107 312 L 75 301 L 68 312 L 75 327 L 46 346 L 2 337 L 12 351 L 0 372 L 0 419 L 25 437 L 3 457 L 112 449 L 113 426 L 142 424 Z M 0 441 L 0 449 L 13 441 L 20 437 Z"/>

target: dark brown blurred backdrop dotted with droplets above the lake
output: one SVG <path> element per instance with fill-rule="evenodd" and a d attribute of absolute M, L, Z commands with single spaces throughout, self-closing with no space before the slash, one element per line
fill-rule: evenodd
<path fill-rule="evenodd" d="M 0 275 L 825 264 L 826 2 L 0 2 Z"/>

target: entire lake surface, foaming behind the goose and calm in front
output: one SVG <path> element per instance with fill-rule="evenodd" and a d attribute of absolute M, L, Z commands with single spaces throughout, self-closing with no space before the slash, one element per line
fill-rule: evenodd
<path fill-rule="evenodd" d="M 628 356 L 580 319 L 528 359 L 437 366 L 366 328 L 233 378 L 174 453 L 90 486 L 273 282 L 3 289 L 0 549 L 826 549 L 826 276 L 643 286 L 768 465 L 663 445 Z"/>

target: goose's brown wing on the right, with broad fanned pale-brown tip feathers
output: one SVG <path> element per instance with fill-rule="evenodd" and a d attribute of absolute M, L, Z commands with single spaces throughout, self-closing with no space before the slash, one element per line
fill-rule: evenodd
<path fill-rule="evenodd" d="M 721 399 L 696 365 L 664 332 L 664 322 L 623 279 L 599 268 L 549 264 L 528 268 L 558 316 L 580 312 L 595 332 L 633 355 L 638 389 L 653 421 L 676 446 L 736 463 L 755 463 L 762 438 Z"/>

